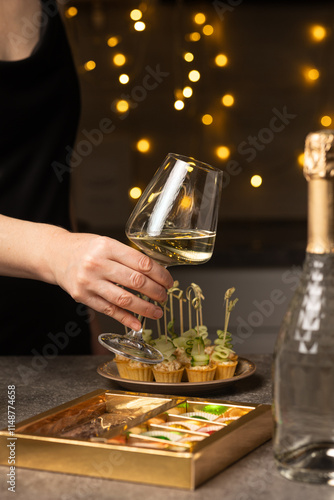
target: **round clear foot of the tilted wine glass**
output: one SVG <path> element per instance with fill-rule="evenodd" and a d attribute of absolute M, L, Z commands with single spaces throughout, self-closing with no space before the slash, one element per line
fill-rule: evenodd
<path fill-rule="evenodd" d="M 98 340 L 109 351 L 125 356 L 126 358 L 134 359 L 135 361 L 140 361 L 141 363 L 161 363 L 164 359 L 158 349 L 135 337 L 129 338 L 126 335 L 118 335 L 116 333 L 102 333 L 99 335 Z"/>

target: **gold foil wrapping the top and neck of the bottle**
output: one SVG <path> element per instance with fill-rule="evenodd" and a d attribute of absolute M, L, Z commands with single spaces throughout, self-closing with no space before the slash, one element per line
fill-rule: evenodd
<path fill-rule="evenodd" d="M 308 181 L 309 253 L 334 252 L 334 130 L 308 134 L 304 176 Z"/>

